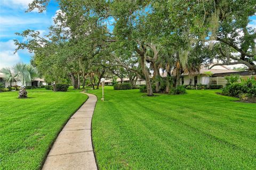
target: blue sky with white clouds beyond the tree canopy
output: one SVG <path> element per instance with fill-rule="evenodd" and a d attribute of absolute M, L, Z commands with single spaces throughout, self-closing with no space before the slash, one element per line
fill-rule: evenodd
<path fill-rule="evenodd" d="M 44 13 L 37 11 L 25 13 L 28 4 L 33 0 L 0 0 L 0 69 L 5 66 L 12 66 L 15 63 L 29 63 L 33 54 L 27 50 L 19 50 L 13 54 L 15 45 L 13 39 L 22 41 L 22 37 L 15 35 L 15 32 L 22 32 L 26 29 L 38 30 L 41 35 L 47 33 L 48 27 L 53 24 L 53 17 L 58 4 L 51 1 Z M 250 18 L 249 26 L 256 28 L 256 16 Z M 110 18 L 110 22 L 111 18 Z M 108 25 L 109 29 L 113 26 Z"/>

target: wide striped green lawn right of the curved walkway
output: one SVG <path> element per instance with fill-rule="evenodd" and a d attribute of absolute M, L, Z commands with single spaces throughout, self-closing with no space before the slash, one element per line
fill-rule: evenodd
<path fill-rule="evenodd" d="M 106 87 L 92 122 L 99 168 L 255 169 L 256 104 L 215 92 L 146 97 Z"/>

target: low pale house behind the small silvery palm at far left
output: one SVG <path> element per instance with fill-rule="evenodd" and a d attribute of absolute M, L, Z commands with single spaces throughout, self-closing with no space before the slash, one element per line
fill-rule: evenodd
<path fill-rule="evenodd" d="M 5 87 L 9 87 L 10 86 L 10 82 L 6 82 L 4 81 L 4 74 L 3 73 L 0 73 L 0 82 L 3 83 L 5 85 Z M 19 79 L 15 79 L 13 82 L 12 82 L 12 86 L 21 86 L 21 82 Z M 27 86 L 42 86 L 42 85 L 47 85 L 47 83 L 44 81 L 44 79 L 41 79 L 41 78 L 35 78 L 33 81 L 27 83 Z"/>

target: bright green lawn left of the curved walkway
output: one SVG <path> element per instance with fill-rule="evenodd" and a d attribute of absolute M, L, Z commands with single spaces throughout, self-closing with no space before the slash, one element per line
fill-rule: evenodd
<path fill-rule="evenodd" d="M 87 99 L 78 90 L 0 93 L 0 169 L 39 169 L 69 117 Z"/>

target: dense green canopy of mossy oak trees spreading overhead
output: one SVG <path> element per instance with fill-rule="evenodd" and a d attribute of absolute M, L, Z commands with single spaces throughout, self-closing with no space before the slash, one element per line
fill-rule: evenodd
<path fill-rule="evenodd" d="M 28 11 L 42 12 L 49 2 L 35 0 Z M 79 88 L 80 79 L 90 78 L 94 86 L 107 74 L 139 77 L 152 96 L 152 83 L 156 91 L 161 86 L 160 70 L 174 77 L 176 86 L 181 74 L 193 75 L 214 59 L 222 62 L 215 65 L 240 63 L 256 70 L 256 33 L 248 27 L 256 0 L 58 3 L 49 35 L 26 30 L 17 33 L 26 41 L 15 40 L 17 50 L 28 48 L 35 54 L 39 73 L 49 81 L 70 78 Z"/>

